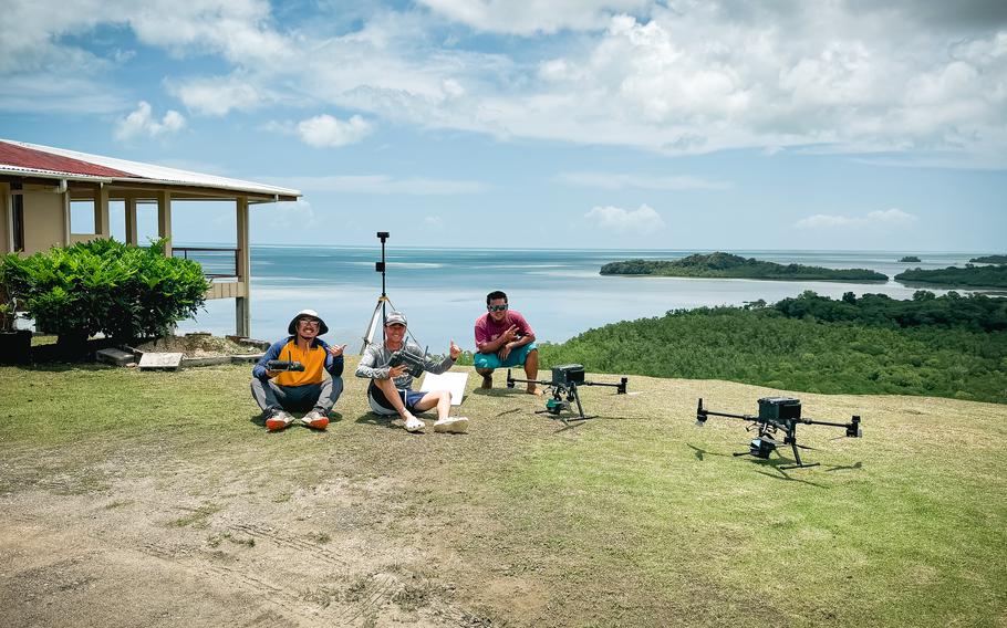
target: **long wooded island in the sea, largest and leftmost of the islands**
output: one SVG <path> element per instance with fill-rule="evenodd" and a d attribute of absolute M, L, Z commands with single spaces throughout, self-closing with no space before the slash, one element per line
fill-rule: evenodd
<path fill-rule="evenodd" d="M 866 269 L 824 269 L 777 264 L 730 253 L 696 253 L 675 261 L 625 260 L 601 268 L 603 275 L 655 275 L 783 281 L 887 281 L 887 275 Z"/>

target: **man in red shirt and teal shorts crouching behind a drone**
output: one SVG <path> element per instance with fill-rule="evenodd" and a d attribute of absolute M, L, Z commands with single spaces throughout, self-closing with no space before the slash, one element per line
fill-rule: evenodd
<path fill-rule="evenodd" d="M 486 295 L 486 314 L 476 318 L 476 373 L 482 376 L 482 388 L 492 388 L 492 374 L 505 366 L 525 366 L 526 379 L 539 375 L 539 350 L 534 332 L 520 312 L 510 310 L 507 295 L 497 290 Z M 529 395 L 539 395 L 534 384 Z"/>

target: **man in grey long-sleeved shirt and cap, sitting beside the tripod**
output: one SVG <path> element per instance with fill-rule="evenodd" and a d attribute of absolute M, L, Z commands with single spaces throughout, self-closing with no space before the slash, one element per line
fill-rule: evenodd
<path fill-rule="evenodd" d="M 436 408 L 437 422 L 434 423 L 434 431 L 460 433 L 468 430 L 467 418 L 449 416 L 450 391 L 417 393 L 413 390 L 413 376 L 406 370 L 408 364 L 392 366 L 393 354 L 404 352 L 411 354 L 415 362 L 422 362 L 424 370 L 439 375 L 455 365 L 461 349 L 451 341 L 448 356 L 440 362 L 434 362 L 425 355 L 419 345 L 406 341 L 406 325 L 405 314 L 390 312 L 385 316 L 384 343 L 370 345 L 360 358 L 356 376 L 371 380 L 371 385 L 367 386 L 367 402 L 371 410 L 384 417 L 398 415 L 405 421 L 406 431 L 417 432 L 425 428 L 426 423 L 417 419 L 413 412 Z"/>

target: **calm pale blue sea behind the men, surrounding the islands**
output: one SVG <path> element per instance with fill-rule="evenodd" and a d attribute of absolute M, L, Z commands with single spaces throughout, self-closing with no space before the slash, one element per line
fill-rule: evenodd
<path fill-rule="evenodd" d="M 455 339 L 471 349 L 473 326 L 486 311 L 486 294 L 507 293 L 539 341 L 562 342 L 617 321 L 662 316 L 668 310 L 704 305 L 768 303 L 804 290 L 831 297 L 883 293 L 909 299 L 918 286 L 886 283 L 782 282 L 677 278 L 602 276 L 602 264 L 627 259 L 677 259 L 695 251 L 404 249 L 386 251 L 386 293 L 409 320 L 422 346 L 443 353 Z M 921 263 L 899 263 L 901 252 L 731 251 L 778 263 L 864 268 L 894 276 L 907 268 L 964 265 L 975 253 L 918 254 Z M 251 251 L 251 335 L 267 341 L 287 333 L 300 310 L 316 310 L 329 325 L 325 338 L 357 352 L 381 295 L 374 247 L 253 247 Z M 932 290 L 938 294 L 946 291 Z M 967 291 L 959 291 L 967 292 Z M 207 302 L 180 332 L 235 332 L 233 300 Z"/>

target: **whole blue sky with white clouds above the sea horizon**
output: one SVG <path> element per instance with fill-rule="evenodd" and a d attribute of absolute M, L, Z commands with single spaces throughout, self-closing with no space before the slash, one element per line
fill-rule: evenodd
<path fill-rule="evenodd" d="M 1001 0 L 13 0 L 4 21 L 0 137 L 300 189 L 252 210 L 256 243 L 1005 251 Z M 231 241 L 232 214 L 176 203 L 175 232 Z"/>

